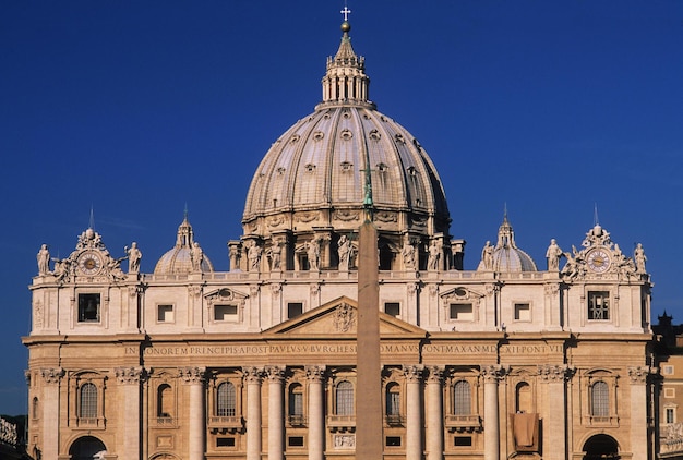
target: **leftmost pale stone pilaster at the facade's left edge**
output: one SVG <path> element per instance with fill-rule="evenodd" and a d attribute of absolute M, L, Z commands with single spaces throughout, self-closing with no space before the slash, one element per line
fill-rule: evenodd
<path fill-rule="evenodd" d="M 59 456 L 59 383 L 64 376 L 61 367 L 40 370 L 43 376 L 43 443 L 44 459 Z"/>

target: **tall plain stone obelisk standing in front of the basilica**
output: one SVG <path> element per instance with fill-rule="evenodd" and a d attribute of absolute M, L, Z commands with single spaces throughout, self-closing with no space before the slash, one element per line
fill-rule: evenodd
<path fill-rule="evenodd" d="M 378 230 L 372 222 L 370 171 L 366 171 L 366 219 L 358 251 L 356 371 L 356 458 L 382 460 L 382 372 L 380 361 L 380 285 Z"/>

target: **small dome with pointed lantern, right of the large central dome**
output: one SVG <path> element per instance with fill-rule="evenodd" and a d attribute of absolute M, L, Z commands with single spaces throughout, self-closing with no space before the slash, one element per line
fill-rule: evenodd
<path fill-rule="evenodd" d="M 487 253 L 490 255 L 487 256 Z M 507 215 L 499 228 L 495 246 L 491 246 L 490 242 L 487 241 L 483 247 L 477 271 L 484 270 L 498 273 L 538 271 L 531 256 L 517 247 L 515 232 L 507 221 Z"/>

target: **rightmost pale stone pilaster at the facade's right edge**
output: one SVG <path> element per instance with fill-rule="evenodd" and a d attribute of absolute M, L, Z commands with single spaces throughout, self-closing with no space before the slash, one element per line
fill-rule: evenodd
<path fill-rule="evenodd" d="M 647 376 L 649 366 L 628 367 L 631 380 L 631 451 L 634 459 L 648 459 L 650 443 L 647 428 Z"/>

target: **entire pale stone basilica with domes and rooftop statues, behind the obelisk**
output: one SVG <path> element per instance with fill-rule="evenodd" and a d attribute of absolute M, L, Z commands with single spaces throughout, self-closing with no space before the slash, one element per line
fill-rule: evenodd
<path fill-rule="evenodd" d="M 358 403 L 369 215 L 385 459 L 655 458 L 643 249 L 623 254 L 596 223 L 539 242 L 539 267 L 503 216 L 464 270 L 441 178 L 370 100 L 349 33 L 322 101 L 255 171 L 229 271 L 188 216 L 153 273 L 144 247 L 111 254 L 93 228 L 63 259 L 40 249 L 23 338 L 34 458 L 356 458 L 359 421 L 378 415 Z"/>

